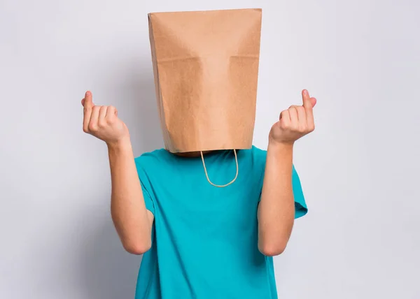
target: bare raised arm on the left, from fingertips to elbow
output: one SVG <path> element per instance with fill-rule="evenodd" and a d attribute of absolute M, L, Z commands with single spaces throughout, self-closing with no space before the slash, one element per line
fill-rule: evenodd
<path fill-rule="evenodd" d="M 144 254 L 151 247 L 153 214 L 146 210 L 130 134 L 116 108 L 95 106 L 92 94 L 82 100 L 83 131 L 106 142 L 111 167 L 111 215 L 123 247 Z"/>

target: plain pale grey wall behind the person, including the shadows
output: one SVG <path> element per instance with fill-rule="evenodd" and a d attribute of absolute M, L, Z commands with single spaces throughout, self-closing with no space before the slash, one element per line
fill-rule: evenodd
<path fill-rule="evenodd" d="M 263 8 L 255 145 L 301 89 L 318 99 L 279 298 L 420 298 L 414 0 L 0 0 L 0 298 L 133 298 L 141 258 L 114 231 L 80 99 L 116 105 L 134 154 L 161 147 L 146 13 L 248 7 Z"/>

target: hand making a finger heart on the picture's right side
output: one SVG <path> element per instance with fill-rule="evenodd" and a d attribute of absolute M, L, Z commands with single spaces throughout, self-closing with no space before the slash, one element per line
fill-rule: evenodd
<path fill-rule="evenodd" d="M 302 136 L 314 131 L 314 114 L 312 108 L 316 99 L 309 96 L 309 92 L 302 91 L 303 105 L 291 105 L 288 110 L 280 114 L 279 122 L 276 122 L 269 132 L 270 143 L 281 143 L 293 145 Z"/>

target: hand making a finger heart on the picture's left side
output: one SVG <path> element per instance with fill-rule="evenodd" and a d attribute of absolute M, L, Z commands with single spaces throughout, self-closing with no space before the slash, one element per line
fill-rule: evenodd
<path fill-rule="evenodd" d="M 95 106 L 91 92 L 86 92 L 82 105 L 85 133 L 104 140 L 107 145 L 116 145 L 130 138 L 127 126 L 118 118 L 115 107 Z"/>

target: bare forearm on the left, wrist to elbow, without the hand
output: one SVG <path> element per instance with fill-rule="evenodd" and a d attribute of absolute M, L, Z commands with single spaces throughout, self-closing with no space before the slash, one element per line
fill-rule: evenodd
<path fill-rule="evenodd" d="M 151 247 L 151 219 L 144 203 L 132 146 L 127 140 L 108 148 L 113 223 L 125 249 L 142 254 Z"/>

